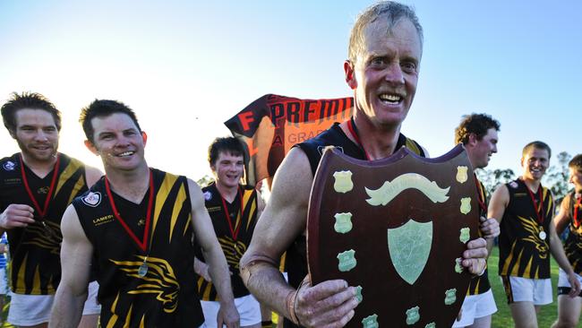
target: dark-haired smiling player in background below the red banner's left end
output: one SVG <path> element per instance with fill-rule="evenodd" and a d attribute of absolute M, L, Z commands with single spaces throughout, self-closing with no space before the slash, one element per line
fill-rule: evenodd
<path fill-rule="evenodd" d="M 241 327 L 261 328 L 261 306 L 246 287 L 238 273 L 238 263 L 251 243 L 254 226 L 264 203 L 253 186 L 240 184 L 244 173 L 244 149 L 234 137 L 217 138 L 210 144 L 208 155 L 215 182 L 202 188 L 206 210 L 209 211 L 214 231 L 227 257 L 230 279 L 235 294 L 235 305 L 241 316 Z M 199 263 L 198 293 L 204 316 L 212 318 L 218 311 L 217 291 L 208 280 L 208 265 Z M 207 320 L 207 327 L 216 327 Z"/>

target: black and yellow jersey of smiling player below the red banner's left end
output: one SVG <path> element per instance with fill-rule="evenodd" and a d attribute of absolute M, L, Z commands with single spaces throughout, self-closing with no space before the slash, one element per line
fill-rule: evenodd
<path fill-rule="evenodd" d="M 242 298 L 250 292 L 244 287 L 238 263 L 246 248 L 251 244 L 252 232 L 257 222 L 257 192 L 252 186 L 239 186 L 233 203 L 228 203 L 220 196 L 216 184 L 202 188 L 206 201 L 206 210 L 212 219 L 214 231 L 222 251 L 227 257 L 230 281 L 235 298 Z M 243 203 L 241 203 L 241 196 Z M 226 210 L 225 211 L 225 206 Z M 243 215 L 241 215 L 241 211 Z M 227 220 L 227 214 L 230 220 Z M 201 258 L 201 257 L 199 257 Z M 211 282 L 198 278 L 198 293 L 202 300 L 216 301 L 217 290 Z"/>

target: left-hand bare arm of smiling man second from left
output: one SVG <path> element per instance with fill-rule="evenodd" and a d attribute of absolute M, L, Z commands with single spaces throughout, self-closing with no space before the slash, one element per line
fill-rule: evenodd
<path fill-rule="evenodd" d="M 61 231 L 62 276 L 56 289 L 49 327 L 76 327 L 87 299 L 93 246 L 81 228 L 73 205 L 69 205 L 64 211 Z"/>

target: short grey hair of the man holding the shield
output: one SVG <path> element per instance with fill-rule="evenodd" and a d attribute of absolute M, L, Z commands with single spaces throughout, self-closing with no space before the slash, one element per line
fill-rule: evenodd
<path fill-rule="evenodd" d="M 347 48 L 347 57 L 352 64 L 355 64 L 355 59 L 364 48 L 364 30 L 368 25 L 372 22 L 376 22 L 378 19 L 386 20 L 388 23 L 387 32 L 391 35 L 394 25 L 405 18 L 415 25 L 422 50 L 424 39 L 423 27 L 420 25 L 420 22 L 418 22 L 415 9 L 406 4 L 398 4 L 393 1 L 381 1 L 366 8 L 355 20 L 354 27 L 352 28 L 349 37 L 349 46 Z"/>

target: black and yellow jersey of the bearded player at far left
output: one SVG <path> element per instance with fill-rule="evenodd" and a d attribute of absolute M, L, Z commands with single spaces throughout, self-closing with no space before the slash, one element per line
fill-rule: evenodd
<path fill-rule="evenodd" d="M 26 228 L 6 230 L 10 244 L 11 289 L 17 294 L 52 295 L 61 281 L 61 218 L 73 198 L 87 191 L 87 183 L 81 161 L 62 153 L 57 156 L 56 181 L 45 217 L 41 218 L 35 209 L 36 223 Z M 26 165 L 21 167 L 21 163 L 20 153 L 0 160 L 0 211 L 12 203 L 35 208 L 26 191 L 22 169 L 31 194 L 41 211 L 44 209 L 55 171 L 40 178 Z"/>

